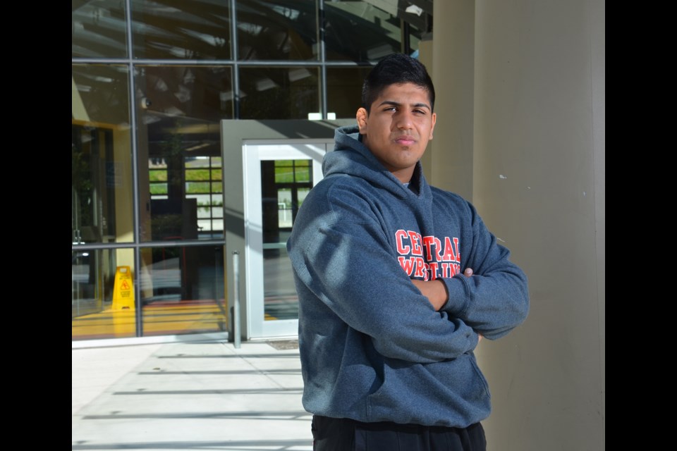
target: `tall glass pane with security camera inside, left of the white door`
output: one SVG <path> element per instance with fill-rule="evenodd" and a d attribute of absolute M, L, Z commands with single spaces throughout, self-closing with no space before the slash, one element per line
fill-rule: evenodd
<path fill-rule="evenodd" d="M 219 123 L 233 117 L 231 70 L 223 66 L 139 69 L 142 240 L 221 238 L 222 219 L 205 222 L 202 209 L 209 211 L 211 194 L 222 193 Z M 202 194 L 204 199 L 198 197 Z"/>

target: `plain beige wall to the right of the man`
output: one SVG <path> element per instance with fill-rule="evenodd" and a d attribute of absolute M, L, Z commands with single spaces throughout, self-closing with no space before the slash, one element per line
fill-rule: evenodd
<path fill-rule="evenodd" d="M 434 7 L 432 183 L 472 200 L 530 283 L 525 323 L 477 350 L 489 449 L 604 450 L 604 0 Z"/>

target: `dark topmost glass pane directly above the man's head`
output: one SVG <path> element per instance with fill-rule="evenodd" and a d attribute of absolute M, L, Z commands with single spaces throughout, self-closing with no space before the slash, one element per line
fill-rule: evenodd
<path fill-rule="evenodd" d="M 401 20 L 367 1 L 324 3 L 327 61 L 374 63 L 404 51 Z M 411 27 L 410 48 L 418 48 L 420 32 Z"/>

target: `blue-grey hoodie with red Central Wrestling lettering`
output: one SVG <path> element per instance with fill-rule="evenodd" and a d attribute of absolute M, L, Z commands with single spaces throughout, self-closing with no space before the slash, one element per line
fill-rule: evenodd
<path fill-rule="evenodd" d="M 466 427 L 490 412 L 473 350 L 527 316 L 527 278 L 470 203 L 406 187 L 356 126 L 336 130 L 324 180 L 295 219 L 287 249 L 299 302 L 303 406 L 358 421 Z M 472 268 L 474 276 L 463 276 Z M 410 279 L 441 279 L 435 311 Z"/>

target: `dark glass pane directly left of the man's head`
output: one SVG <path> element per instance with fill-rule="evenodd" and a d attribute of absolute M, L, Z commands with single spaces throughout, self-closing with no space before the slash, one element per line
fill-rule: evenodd
<path fill-rule="evenodd" d="M 362 82 L 371 68 L 327 68 L 327 111 L 354 118 L 362 106 Z"/>

